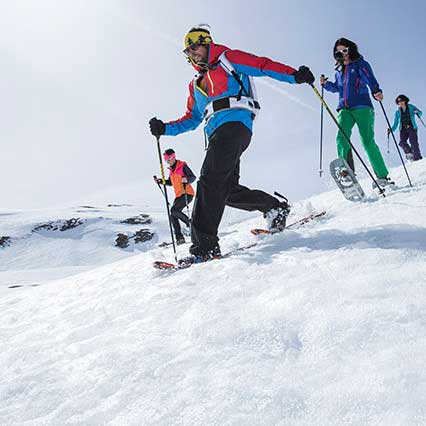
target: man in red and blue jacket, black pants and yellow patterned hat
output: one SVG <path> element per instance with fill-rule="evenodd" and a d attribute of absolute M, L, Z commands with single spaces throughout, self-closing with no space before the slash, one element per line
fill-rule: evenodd
<path fill-rule="evenodd" d="M 192 261 L 220 256 L 218 227 L 225 205 L 258 210 L 270 229 L 282 230 L 290 211 L 287 201 L 239 184 L 240 157 L 250 144 L 253 120 L 260 109 L 252 77 L 267 76 L 290 84 L 313 83 L 310 69 L 258 57 L 213 43 L 210 31 L 192 28 L 184 53 L 198 71 L 189 84 L 187 111 L 178 120 L 150 120 L 154 136 L 175 136 L 205 121 L 206 156 L 201 168 L 191 222 Z"/>

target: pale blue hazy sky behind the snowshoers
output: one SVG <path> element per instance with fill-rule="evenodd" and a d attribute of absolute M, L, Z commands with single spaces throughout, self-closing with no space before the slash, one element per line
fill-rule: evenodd
<path fill-rule="evenodd" d="M 185 31 L 200 22 L 216 42 L 332 76 L 334 41 L 356 41 L 393 116 L 407 94 L 426 109 L 426 6 L 421 1 L 7 2 L 0 17 L 0 206 L 44 207 L 158 174 L 150 117 L 185 111 L 193 70 L 181 53 Z M 318 175 L 319 102 L 307 86 L 259 84 L 261 115 L 242 160 L 241 183 L 291 200 L 330 186 L 335 128 L 326 117 L 325 176 Z M 335 108 L 337 97 L 326 95 Z M 386 162 L 386 125 L 376 107 L 376 140 Z M 426 130 L 419 130 L 426 152 Z M 357 132 L 353 142 L 359 146 Z M 197 173 L 201 128 L 163 138 Z M 362 150 L 361 150 L 362 152 Z M 141 195 L 142 196 L 142 195 Z M 113 200 L 111 200 L 113 201 Z M 161 200 L 160 200 L 161 202 Z"/>

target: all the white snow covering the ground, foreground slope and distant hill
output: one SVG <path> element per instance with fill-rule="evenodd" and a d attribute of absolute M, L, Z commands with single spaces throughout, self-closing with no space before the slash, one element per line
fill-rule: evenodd
<path fill-rule="evenodd" d="M 407 167 L 414 188 L 398 168 L 387 198 L 320 194 L 293 219 L 322 220 L 172 273 L 160 210 L 31 237 L 75 209 L 0 212 L 0 425 L 426 425 L 426 161 Z M 139 213 L 155 239 L 115 248 Z M 228 210 L 222 250 L 261 225 Z"/>

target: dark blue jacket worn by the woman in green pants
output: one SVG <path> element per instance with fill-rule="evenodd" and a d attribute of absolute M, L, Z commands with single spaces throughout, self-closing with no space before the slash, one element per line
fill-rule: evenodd
<path fill-rule="evenodd" d="M 336 71 L 335 81 L 327 81 L 323 87 L 328 92 L 339 92 L 337 111 L 343 108 L 372 108 L 368 88 L 373 94 L 381 92 L 370 64 L 362 56 Z"/>

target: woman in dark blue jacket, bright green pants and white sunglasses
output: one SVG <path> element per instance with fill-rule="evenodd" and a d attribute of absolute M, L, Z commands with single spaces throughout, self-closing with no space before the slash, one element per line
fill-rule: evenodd
<path fill-rule="evenodd" d="M 370 64 L 358 51 L 358 46 L 351 40 L 340 38 L 334 44 L 333 56 L 336 60 L 336 79 L 327 81 L 322 77 L 321 85 L 329 92 L 339 93 L 337 120 L 343 131 L 351 137 L 352 128 L 358 126 L 362 146 L 377 176 L 380 186 L 392 183 L 388 177 L 383 156 L 374 140 L 374 109 L 370 99 L 381 101 L 383 93 L 374 77 Z M 355 171 L 351 146 L 339 130 L 336 137 L 337 153 L 344 158 Z"/>

